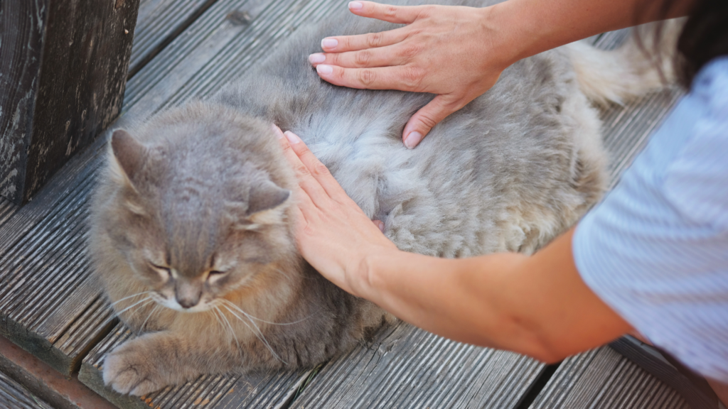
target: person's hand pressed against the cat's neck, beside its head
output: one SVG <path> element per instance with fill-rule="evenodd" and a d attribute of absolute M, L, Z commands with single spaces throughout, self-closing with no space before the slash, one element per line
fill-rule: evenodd
<path fill-rule="evenodd" d="M 324 277 L 354 295 L 368 285 L 368 255 L 397 246 L 382 234 L 381 221 L 371 221 L 323 163 L 293 132 L 274 132 L 296 172 L 296 245 Z"/>

